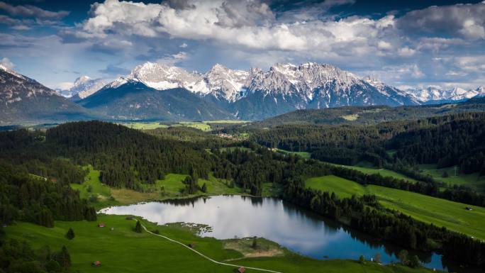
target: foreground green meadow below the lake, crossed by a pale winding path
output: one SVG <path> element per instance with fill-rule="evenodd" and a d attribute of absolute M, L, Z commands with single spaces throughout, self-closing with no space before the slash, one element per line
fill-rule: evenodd
<path fill-rule="evenodd" d="M 98 228 L 96 223 L 105 223 L 106 228 Z M 159 230 L 160 234 L 179 240 L 208 257 L 218 261 L 262 267 L 279 272 L 328 272 L 328 273 L 425 273 L 428 269 L 409 269 L 401 266 L 381 266 L 372 262 L 364 265 L 350 260 L 313 260 L 301 257 L 275 245 L 270 250 L 278 250 L 271 257 L 247 257 L 254 251 L 244 244 L 214 238 L 200 238 L 182 228 L 156 226 L 143 221 L 149 230 Z M 55 228 L 45 228 L 31 223 L 16 223 L 6 228 L 9 238 L 27 240 L 36 249 L 49 245 L 57 250 L 66 245 L 72 259 L 73 272 L 180 272 L 180 273 L 223 273 L 233 272 L 235 267 L 218 265 L 196 255 L 182 245 L 149 233 L 135 233 L 134 221 L 124 216 L 99 216 L 97 222 L 56 221 Z M 73 240 L 67 240 L 65 233 L 72 228 Z M 113 230 L 111 230 L 113 228 Z M 229 245 L 228 245 L 229 243 Z M 264 247 L 270 243 L 262 242 Z M 257 253 L 256 253 L 257 254 Z M 266 253 L 268 254 L 268 253 Z M 99 260 L 100 267 L 92 267 L 91 262 Z M 257 272 L 247 269 L 246 272 Z"/>

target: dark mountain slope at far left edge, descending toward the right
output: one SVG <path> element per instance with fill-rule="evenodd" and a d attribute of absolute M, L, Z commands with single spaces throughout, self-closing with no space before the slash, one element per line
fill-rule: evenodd
<path fill-rule="evenodd" d="M 86 109 L 0 65 L 0 124 L 91 119 Z"/>

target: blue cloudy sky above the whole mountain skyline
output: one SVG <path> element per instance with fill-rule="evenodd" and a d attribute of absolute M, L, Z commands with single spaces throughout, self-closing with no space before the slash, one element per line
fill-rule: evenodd
<path fill-rule="evenodd" d="M 0 64 L 50 88 L 143 62 L 318 62 L 401 89 L 485 85 L 485 1 L 0 0 Z"/>

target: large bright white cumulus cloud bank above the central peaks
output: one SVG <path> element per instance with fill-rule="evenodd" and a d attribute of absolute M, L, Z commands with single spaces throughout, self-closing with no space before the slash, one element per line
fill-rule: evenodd
<path fill-rule="evenodd" d="M 123 32 L 156 37 L 164 33 L 172 38 L 218 40 L 252 49 L 316 52 L 330 52 L 349 44 L 354 53 L 359 53 L 368 52 L 368 47 L 373 46 L 371 40 L 384 35 L 394 24 L 394 16 L 285 23 L 278 21 L 263 1 L 184 3 L 191 8 L 107 0 L 92 6 L 91 18 L 84 22 L 79 35 L 103 38 L 108 33 Z"/>

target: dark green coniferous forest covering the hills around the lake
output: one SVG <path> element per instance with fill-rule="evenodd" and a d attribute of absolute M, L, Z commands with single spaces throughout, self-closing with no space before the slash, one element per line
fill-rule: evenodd
<path fill-rule="evenodd" d="M 375 126 L 286 125 L 252 131 L 249 140 L 242 141 L 206 138 L 204 133 L 192 132 L 196 140 L 187 142 L 179 139 L 180 129 L 144 133 L 101 121 L 65 123 L 45 131 L 12 130 L 0 133 L 0 220 L 46 227 L 55 225 L 56 220 L 96 220 L 94 208 L 69 186 L 84 181 L 85 165 L 99 169 L 104 184 L 134 190 L 168 173 L 189 174 L 183 182 L 186 194 L 207 190 L 205 184 L 200 186 L 196 181 L 212 173 L 252 196 L 262 196 L 264 183 L 277 184 L 283 189 L 279 197 L 285 201 L 374 238 L 412 250 L 438 250 L 447 259 L 483 267 L 485 243 L 479 240 L 384 208 L 376 196 L 340 198 L 330 191 L 308 189 L 303 181 L 333 174 L 362 185 L 485 206 L 481 193 L 466 186 L 445 185 L 413 171 L 413 165 L 436 163 L 443 167 L 458 165 L 464 173 L 483 173 L 484 128 L 485 114 L 459 113 Z M 224 148 L 228 146 L 233 148 Z M 311 152 L 312 159 L 274 152 L 273 147 Z M 396 152 L 389 155 L 388 150 Z M 325 163 L 352 165 L 360 160 L 406 172 L 418 181 L 364 174 Z M 4 241 L 2 251 L 21 247 L 19 244 Z M 22 251 L 24 256 L 31 255 L 25 246 Z M 35 266 L 51 266 L 55 255 Z M 18 262 L 23 256 L 5 259 Z"/>

